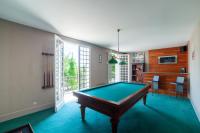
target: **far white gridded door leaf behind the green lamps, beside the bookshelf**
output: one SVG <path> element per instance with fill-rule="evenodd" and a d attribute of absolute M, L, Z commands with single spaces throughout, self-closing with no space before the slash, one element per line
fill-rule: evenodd
<path fill-rule="evenodd" d="M 120 65 L 120 81 L 128 82 L 129 81 L 129 55 L 128 54 L 121 54 L 119 55 L 120 60 L 124 60 L 127 62 L 126 65 Z"/>

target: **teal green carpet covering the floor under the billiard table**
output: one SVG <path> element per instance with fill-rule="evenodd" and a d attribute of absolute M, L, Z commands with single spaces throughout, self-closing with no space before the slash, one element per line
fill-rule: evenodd
<path fill-rule="evenodd" d="M 36 133 L 111 133 L 110 118 L 86 109 L 81 121 L 79 104 L 67 103 L 58 113 L 48 109 L 0 123 L 0 132 L 30 122 Z M 200 133 L 200 123 L 189 100 L 149 94 L 147 106 L 138 102 L 120 119 L 119 133 Z"/>

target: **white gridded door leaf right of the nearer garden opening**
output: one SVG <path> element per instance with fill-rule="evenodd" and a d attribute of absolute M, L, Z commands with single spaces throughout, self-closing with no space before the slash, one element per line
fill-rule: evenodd
<path fill-rule="evenodd" d="M 90 49 L 79 47 L 79 88 L 89 88 L 90 83 Z"/>

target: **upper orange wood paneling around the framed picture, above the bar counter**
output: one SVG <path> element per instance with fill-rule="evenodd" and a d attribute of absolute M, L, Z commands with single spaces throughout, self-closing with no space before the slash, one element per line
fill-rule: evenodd
<path fill-rule="evenodd" d="M 177 55 L 177 64 L 158 64 L 159 56 Z M 188 72 L 188 52 L 181 52 L 180 47 L 149 50 L 150 72 L 174 72 L 179 73 L 180 68 L 186 68 Z"/>

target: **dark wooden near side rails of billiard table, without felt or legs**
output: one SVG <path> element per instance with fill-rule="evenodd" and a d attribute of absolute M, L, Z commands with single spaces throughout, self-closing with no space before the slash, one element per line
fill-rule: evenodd
<path fill-rule="evenodd" d="M 82 106 L 89 107 L 110 117 L 121 116 L 129 108 L 131 108 L 137 101 L 142 97 L 147 95 L 150 85 L 146 85 L 143 89 L 137 91 L 136 93 L 128 96 L 127 98 L 114 102 L 110 100 L 104 100 L 85 94 L 81 91 L 73 92 L 73 94 L 78 97 L 78 103 Z"/>

